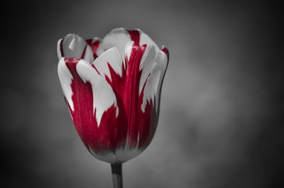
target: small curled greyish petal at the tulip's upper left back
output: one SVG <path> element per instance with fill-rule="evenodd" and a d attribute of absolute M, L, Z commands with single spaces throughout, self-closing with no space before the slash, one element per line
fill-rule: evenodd
<path fill-rule="evenodd" d="M 61 57 L 77 57 L 92 62 L 92 48 L 79 35 L 68 34 L 58 40 L 58 59 Z"/>

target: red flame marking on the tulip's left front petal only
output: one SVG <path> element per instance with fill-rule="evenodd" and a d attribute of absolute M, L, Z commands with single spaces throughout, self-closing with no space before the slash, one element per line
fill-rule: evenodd
<path fill-rule="evenodd" d="M 104 153 L 121 146 L 119 121 L 116 119 L 116 107 L 113 105 L 102 115 L 101 123 L 97 126 L 96 111 L 93 113 L 92 84 L 84 82 L 77 74 L 76 65 L 80 60 L 77 58 L 66 59 L 65 63 L 72 74 L 72 101 L 74 111 L 69 106 L 75 128 L 87 149 L 95 153 Z M 123 126 L 123 125 L 122 125 Z"/>

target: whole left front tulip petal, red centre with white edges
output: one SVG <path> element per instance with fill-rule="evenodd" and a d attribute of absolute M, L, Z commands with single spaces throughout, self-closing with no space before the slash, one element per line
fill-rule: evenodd
<path fill-rule="evenodd" d="M 117 130 L 119 108 L 109 84 L 89 62 L 64 58 L 58 74 L 73 122 L 91 153 L 113 153 L 126 138 Z M 122 125 L 123 126 L 123 125 Z M 126 130 L 126 128 L 124 128 Z"/>

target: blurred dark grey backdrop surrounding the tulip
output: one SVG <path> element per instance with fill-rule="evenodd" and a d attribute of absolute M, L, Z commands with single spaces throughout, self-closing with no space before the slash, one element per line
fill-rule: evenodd
<path fill-rule="evenodd" d="M 2 9 L 4 187 L 112 186 L 110 165 L 87 152 L 72 124 L 56 45 L 67 33 L 103 38 L 116 27 L 141 28 L 170 51 L 158 130 L 124 164 L 126 188 L 280 187 L 283 13 L 277 4 L 13 1 Z"/>

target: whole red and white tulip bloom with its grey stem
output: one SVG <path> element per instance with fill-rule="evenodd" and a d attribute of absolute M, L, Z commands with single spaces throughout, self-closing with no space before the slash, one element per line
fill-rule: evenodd
<path fill-rule="evenodd" d="M 116 28 L 102 40 L 68 34 L 58 41 L 58 75 L 72 121 L 89 153 L 121 164 L 151 142 L 169 52 L 139 29 Z"/>

